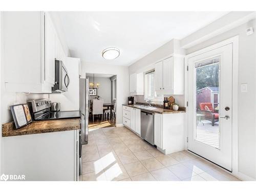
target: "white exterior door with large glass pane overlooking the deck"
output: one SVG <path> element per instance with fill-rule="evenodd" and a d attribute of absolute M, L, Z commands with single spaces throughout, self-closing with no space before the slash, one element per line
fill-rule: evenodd
<path fill-rule="evenodd" d="M 188 150 L 232 171 L 232 44 L 187 63 Z M 218 92 L 214 103 L 205 88 Z"/>

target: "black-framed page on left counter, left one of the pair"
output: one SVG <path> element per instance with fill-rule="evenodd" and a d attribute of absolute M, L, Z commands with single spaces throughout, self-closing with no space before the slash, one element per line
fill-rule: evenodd
<path fill-rule="evenodd" d="M 25 111 L 23 108 L 23 104 L 16 104 L 10 106 L 13 120 L 16 126 L 16 129 L 19 129 L 22 126 L 25 126 L 28 124 Z"/>

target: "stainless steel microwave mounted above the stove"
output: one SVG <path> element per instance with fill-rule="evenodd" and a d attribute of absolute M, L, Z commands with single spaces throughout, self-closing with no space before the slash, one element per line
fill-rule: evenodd
<path fill-rule="evenodd" d="M 55 84 L 52 88 L 53 93 L 62 93 L 68 91 L 69 75 L 61 60 L 55 59 Z"/>

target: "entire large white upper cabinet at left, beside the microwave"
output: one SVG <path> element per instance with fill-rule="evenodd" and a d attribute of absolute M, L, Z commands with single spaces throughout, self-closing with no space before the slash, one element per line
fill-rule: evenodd
<path fill-rule="evenodd" d="M 51 93 L 58 37 L 50 15 L 3 12 L 1 25 L 6 91 Z"/>

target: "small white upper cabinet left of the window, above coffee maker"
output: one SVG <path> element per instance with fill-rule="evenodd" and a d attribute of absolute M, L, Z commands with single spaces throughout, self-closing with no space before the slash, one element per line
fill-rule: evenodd
<path fill-rule="evenodd" d="M 144 94 L 144 74 L 133 73 L 130 75 L 130 94 L 143 95 Z"/>

